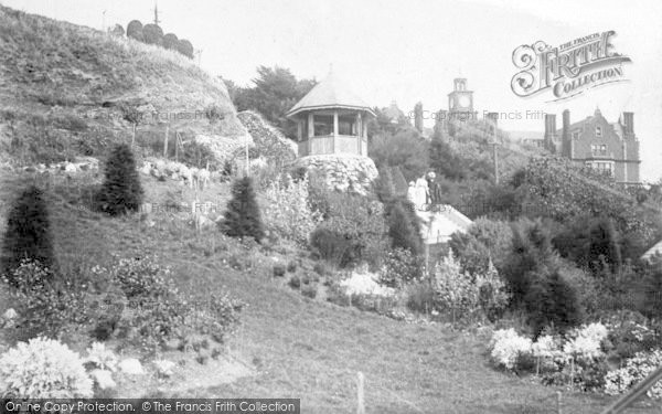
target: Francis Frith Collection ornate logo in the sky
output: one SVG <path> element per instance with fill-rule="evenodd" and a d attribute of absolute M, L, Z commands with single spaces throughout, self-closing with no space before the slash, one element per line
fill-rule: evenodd
<path fill-rule="evenodd" d="M 616 53 L 610 43 L 615 31 L 592 33 L 552 47 L 543 41 L 523 44 L 513 51 L 513 64 L 521 70 L 512 81 L 515 95 L 526 97 L 551 89 L 552 100 L 567 99 L 623 77 L 630 57 Z"/>

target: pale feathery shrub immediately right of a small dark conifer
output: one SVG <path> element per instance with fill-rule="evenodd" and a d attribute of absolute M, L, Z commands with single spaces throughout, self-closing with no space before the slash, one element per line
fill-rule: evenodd
<path fill-rule="evenodd" d="M 322 221 L 321 213 L 308 203 L 308 176 L 295 181 L 290 176 L 285 182 L 276 180 L 266 190 L 267 205 L 264 210 L 267 227 L 279 236 L 306 245 L 310 233 Z"/>

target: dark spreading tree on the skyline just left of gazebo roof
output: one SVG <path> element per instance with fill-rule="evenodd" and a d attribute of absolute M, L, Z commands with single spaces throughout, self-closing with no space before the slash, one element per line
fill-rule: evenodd
<path fill-rule="evenodd" d="M 256 110 L 285 136 L 293 138 L 297 132 L 296 125 L 285 114 L 310 92 L 317 82 L 297 79 L 290 70 L 280 66 L 258 66 L 257 75 L 253 79 L 253 87 L 231 88 L 237 110 Z"/>

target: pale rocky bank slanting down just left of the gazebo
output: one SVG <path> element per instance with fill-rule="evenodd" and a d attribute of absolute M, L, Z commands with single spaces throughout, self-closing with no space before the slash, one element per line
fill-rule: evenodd
<path fill-rule="evenodd" d="M 237 118 L 253 137 L 259 153 L 268 162 L 288 164 L 297 158 L 297 145 L 274 128 L 259 114 L 244 110 Z"/>

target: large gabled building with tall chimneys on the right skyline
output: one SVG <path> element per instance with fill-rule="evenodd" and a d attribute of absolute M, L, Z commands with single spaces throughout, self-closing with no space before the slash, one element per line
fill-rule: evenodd
<path fill-rule="evenodd" d="M 617 182 L 640 183 L 639 139 L 634 135 L 634 114 L 623 113 L 618 123 L 610 124 L 599 109 L 592 116 L 570 124 L 569 110 L 563 112 L 563 125 L 556 128 L 556 115 L 545 115 L 544 146 L 587 166 L 608 173 Z"/>

